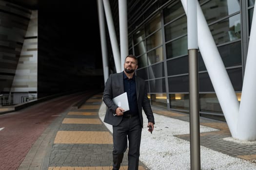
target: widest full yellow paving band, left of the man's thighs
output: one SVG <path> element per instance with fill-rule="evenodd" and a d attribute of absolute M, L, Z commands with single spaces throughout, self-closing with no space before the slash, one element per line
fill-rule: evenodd
<path fill-rule="evenodd" d="M 62 144 L 113 144 L 109 132 L 58 131 L 54 143 Z"/>

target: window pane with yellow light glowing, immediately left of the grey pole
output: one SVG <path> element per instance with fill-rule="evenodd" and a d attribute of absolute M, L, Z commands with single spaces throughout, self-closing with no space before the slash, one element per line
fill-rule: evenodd
<path fill-rule="evenodd" d="M 171 109 L 189 109 L 189 94 L 170 94 L 170 108 Z"/>

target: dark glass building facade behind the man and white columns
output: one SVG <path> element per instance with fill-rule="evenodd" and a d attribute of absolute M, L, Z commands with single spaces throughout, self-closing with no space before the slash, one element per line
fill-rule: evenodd
<path fill-rule="evenodd" d="M 255 0 L 198 2 L 240 101 Z M 127 3 L 129 53 L 138 57 L 136 74 L 147 82 L 151 104 L 189 113 L 187 17 L 181 1 Z M 117 4 L 117 0 L 111 2 L 114 13 L 118 13 Z M 114 22 L 118 23 L 117 17 Z M 200 116 L 225 121 L 200 49 L 198 71 Z"/>

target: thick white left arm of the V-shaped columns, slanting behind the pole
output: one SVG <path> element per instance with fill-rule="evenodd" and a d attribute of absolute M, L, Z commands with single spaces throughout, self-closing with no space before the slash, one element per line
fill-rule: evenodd
<path fill-rule="evenodd" d="M 181 2 L 184 11 L 187 13 L 187 0 L 181 0 Z M 197 31 L 198 47 L 202 54 L 205 67 L 214 86 L 230 132 L 232 136 L 236 136 L 239 103 L 198 1 Z"/>

